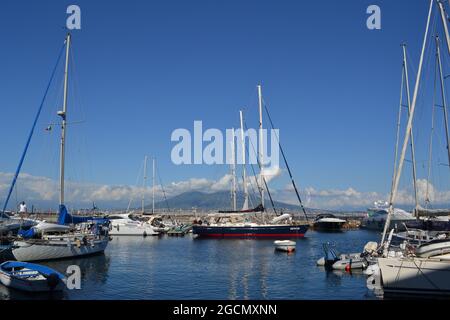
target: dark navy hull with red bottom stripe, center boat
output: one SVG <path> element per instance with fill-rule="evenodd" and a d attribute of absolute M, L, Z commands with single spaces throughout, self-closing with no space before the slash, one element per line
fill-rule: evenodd
<path fill-rule="evenodd" d="M 202 226 L 192 233 L 203 238 L 303 238 L 308 225 Z"/>

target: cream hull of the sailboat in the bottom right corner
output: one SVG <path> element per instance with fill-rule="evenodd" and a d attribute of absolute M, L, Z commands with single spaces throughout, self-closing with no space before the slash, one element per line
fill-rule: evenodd
<path fill-rule="evenodd" d="M 450 296 L 450 261 L 379 258 L 384 294 Z"/>

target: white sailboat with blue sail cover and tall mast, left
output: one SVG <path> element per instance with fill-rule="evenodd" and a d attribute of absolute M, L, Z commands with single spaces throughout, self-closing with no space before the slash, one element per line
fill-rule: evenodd
<path fill-rule="evenodd" d="M 20 232 L 19 239 L 14 241 L 12 246 L 12 254 L 18 261 L 53 260 L 90 255 L 103 252 L 109 241 L 108 220 L 72 216 L 67 212 L 67 208 L 64 204 L 64 167 L 70 41 L 71 35 L 68 33 L 65 39 L 66 61 L 64 69 L 63 110 L 58 111 L 58 115 L 62 119 L 58 223 L 42 221 L 28 231 Z M 36 124 L 36 121 L 37 117 L 34 124 Z M 28 144 L 29 140 L 27 146 Z M 24 155 L 22 156 L 21 163 L 23 162 L 23 157 Z M 16 178 L 17 176 L 15 179 Z M 66 225 L 66 223 L 71 223 L 71 225 Z"/>

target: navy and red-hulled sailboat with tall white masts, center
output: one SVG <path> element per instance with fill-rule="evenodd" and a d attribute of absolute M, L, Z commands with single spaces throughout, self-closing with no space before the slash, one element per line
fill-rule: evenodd
<path fill-rule="evenodd" d="M 261 85 L 257 86 L 258 89 L 258 106 L 259 106 L 259 191 L 261 196 L 261 204 L 253 210 L 248 210 L 248 192 L 246 191 L 245 171 L 244 171 L 244 207 L 242 211 L 236 210 L 236 192 L 235 192 L 235 179 L 232 180 L 232 207 L 231 211 L 221 211 L 219 213 L 210 214 L 210 222 L 204 224 L 203 222 L 194 224 L 192 226 L 192 233 L 197 237 L 206 238 L 300 238 L 304 237 L 308 230 L 309 224 L 298 224 L 292 221 L 292 217 L 289 214 L 282 214 L 273 218 L 271 221 L 265 221 L 265 202 L 264 202 L 264 185 L 266 184 L 263 174 L 263 102 L 262 102 L 262 89 Z M 244 155 L 243 162 L 245 164 L 245 144 L 243 137 L 243 117 L 240 113 L 241 120 L 241 139 Z M 233 137 L 233 159 L 232 159 L 232 174 L 235 174 L 235 156 L 234 156 L 234 137 Z M 281 146 L 280 146 L 281 149 Z M 290 172 L 290 170 L 289 170 Z M 252 221 L 250 214 L 259 214 L 262 219 L 259 221 Z"/>

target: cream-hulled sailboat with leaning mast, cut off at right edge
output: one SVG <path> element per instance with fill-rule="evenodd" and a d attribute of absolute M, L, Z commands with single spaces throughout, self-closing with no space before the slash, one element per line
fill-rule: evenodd
<path fill-rule="evenodd" d="M 384 226 L 380 246 L 380 251 L 382 250 L 382 256 L 377 259 L 376 264 L 377 268 L 374 269 L 377 271 L 368 279 L 368 285 L 370 283 L 380 283 L 385 295 L 386 294 L 420 294 L 433 296 L 450 295 L 449 239 L 432 240 L 430 242 L 421 244 L 419 247 L 416 248 L 412 247 L 408 242 L 406 242 L 403 245 L 404 250 L 401 250 L 400 252 L 390 250 L 390 241 L 394 230 L 390 231 L 389 237 L 386 239 L 386 235 L 390 226 L 390 219 L 393 214 L 393 205 L 396 200 L 398 184 L 400 181 L 401 171 L 405 160 L 406 149 L 410 138 L 412 138 L 411 134 L 412 123 L 417 102 L 417 94 L 419 89 L 420 77 L 422 73 L 424 52 L 427 45 L 428 30 L 430 26 L 434 1 L 435 0 L 430 1 L 427 26 L 423 40 L 422 52 L 420 56 L 413 99 L 411 104 L 408 103 L 409 108 L 408 123 L 404 135 L 403 148 L 400 156 L 398 170 L 395 172 L 393 178 L 392 191 L 389 201 L 389 214 Z M 448 33 L 446 14 L 444 11 L 443 3 L 441 1 L 437 1 L 437 4 L 439 6 L 442 22 L 444 24 L 447 46 L 450 53 L 450 37 Z M 443 81 L 438 38 L 436 39 L 436 58 L 437 58 L 437 66 L 439 67 L 440 73 L 441 93 L 443 98 L 443 109 L 446 124 L 447 151 L 450 164 L 450 149 L 448 149 L 449 139 L 448 139 L 446 102 L 445 102 L 444 81 Z M 414 213 L 417 217 L 421 216 L 430 217 L 439 215 L 448 216 L 450 214 L 450 210 L 449 209 L 430 210 L 427 208 L 422 208 L 416 200 L 416 207 Z"/>

